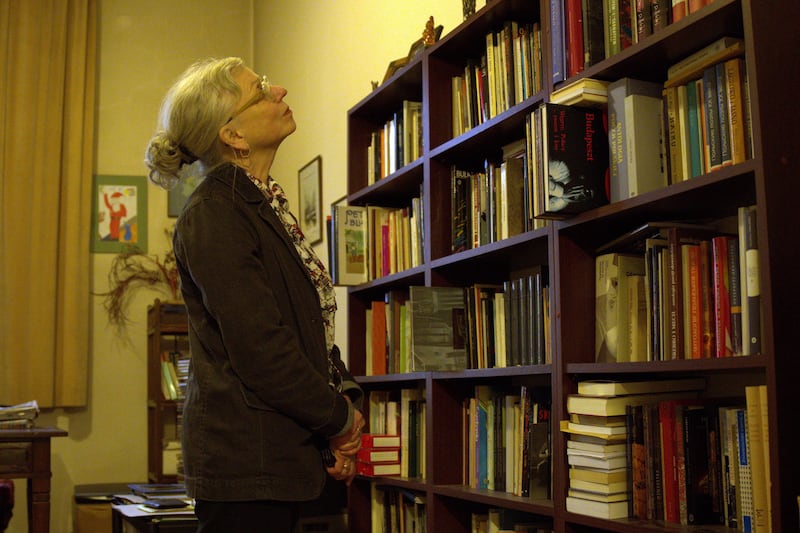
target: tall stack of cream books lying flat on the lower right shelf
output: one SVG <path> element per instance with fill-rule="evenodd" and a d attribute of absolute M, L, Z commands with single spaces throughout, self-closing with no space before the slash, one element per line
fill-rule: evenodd
<path fill-rule="evenodd" d="M 567 511 L 607 519 L 633 516 L 639 481 L 631 406 L 684 398 L 705 386 L 702 379 L 663 381 L 582 381 L 567 398 L 569 492 Z"/>

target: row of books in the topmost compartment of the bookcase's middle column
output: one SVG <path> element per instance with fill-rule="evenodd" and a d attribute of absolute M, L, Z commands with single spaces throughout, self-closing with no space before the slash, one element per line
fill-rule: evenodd
<path fill-rule="evenodd" d="M 506 21 L 486 34 L 480 57 L 452 78 L 453 137 L 542 89 L 541 40 L 538 22 Z"/>

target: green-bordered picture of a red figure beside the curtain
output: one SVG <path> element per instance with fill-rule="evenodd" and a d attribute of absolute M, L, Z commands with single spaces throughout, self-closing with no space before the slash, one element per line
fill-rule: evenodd
<path fill-rule="evenodd" d="M 92 189 L 92 252 L 147 252 L 147 179 L 95 176 Z"/>

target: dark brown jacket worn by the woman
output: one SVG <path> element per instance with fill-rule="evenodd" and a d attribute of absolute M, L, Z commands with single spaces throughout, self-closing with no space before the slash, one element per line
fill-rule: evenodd
<path fill-rule="evenodd" d="M 316 498 L 327 476 L 319 448 L 352 410 L 328 386 L 319 298 L 280 219 L 244 172 L 225 165 L 190 197 L 174 249 L 192 351 L 189 495 Z"/>

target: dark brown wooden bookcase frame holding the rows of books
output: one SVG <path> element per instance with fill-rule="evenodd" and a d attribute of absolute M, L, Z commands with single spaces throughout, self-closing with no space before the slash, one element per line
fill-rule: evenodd
<path fill-rule="evenodd" d="M 598 5 L 600 2 L 596 2 Z M 580 4 L 580 2 L 578 2 Z M 603 520 L 566 511 L 569 487 L 566 438 L 558 431 L 567 417 L 566 397 L 589 378 L 634 379 L 703 376 L 708 394 L 744 398 L 744 387 L 766 385 L 769 409 L 769 471 L 773 531 L 796 531 L 800 495 L 800 459 L 793 387 L 800 317 L 797 210 L 800 198 L 798 69 L 787 59 L 800 44 L 794 28 L 800 4 L 755 0 L 714 0 L 621 53 L 587 67 L 554 86 L 551 2 L 496 0 L 464 21 L 421 57 L 356 104 L 348 113 L 348 202 L 352 205 L 403 206 L 422 192 L 424 256 L 420 266 L 348 289 L 350 367 L 367 391 L 397 395 L 419 389 L 426 401 L 425 476 L 390 478 L 382 485 L 414 492 L 427 507 L 427 530 L 468 532 L 471 513 L 496 507 L 549 520 L 555 531 L 667 530 L 663 523 Z M 573 3 L 574 5 L 574 3 Z M 453 135 L 451 79 L 480 56 L 485 36 L 507 20 L 537 22 L 542 29 L 542 89 L 468 131 Z M 497 160 L 504 145 L 525 138 L 526 120 L 550 99 L 554 89 L 580 77 L 614 81 L 634 77 L 667 79 L 670 65 L 723 36 L 742 38 L 749 77 L 753 157 L 696 178 L 592 209 L 544 228 L 473 249 L 451 251 L 450 172 L 453 165 L 479 168 Z M 367 147 L 400 109 L 403 100 L 422 102 L 423 154 L 372 183 L 367 176 Z M 763 343 L 759 354 L 703 360 L 643 363 L 595 363 L 595 250 L 648 221 L 735 219 L 739 206 L 758 211 Z M 394 289 L 411 285 L 468 286 L 501 283 L 534 265 L 546 265 L 550 286 L 551 358 L 546 364 L 461 372 L 416 372 L 365 376 L 366 310 Z M 527 384 L 549 392 L 552 409 L 552 499 L 530 500 L 500 491 L 466 486 L 462 472 L 462 405 L 479 384 Z M 350 524 L 369 531 L 371 487 L 359 478 L 350 488 Z"/>

